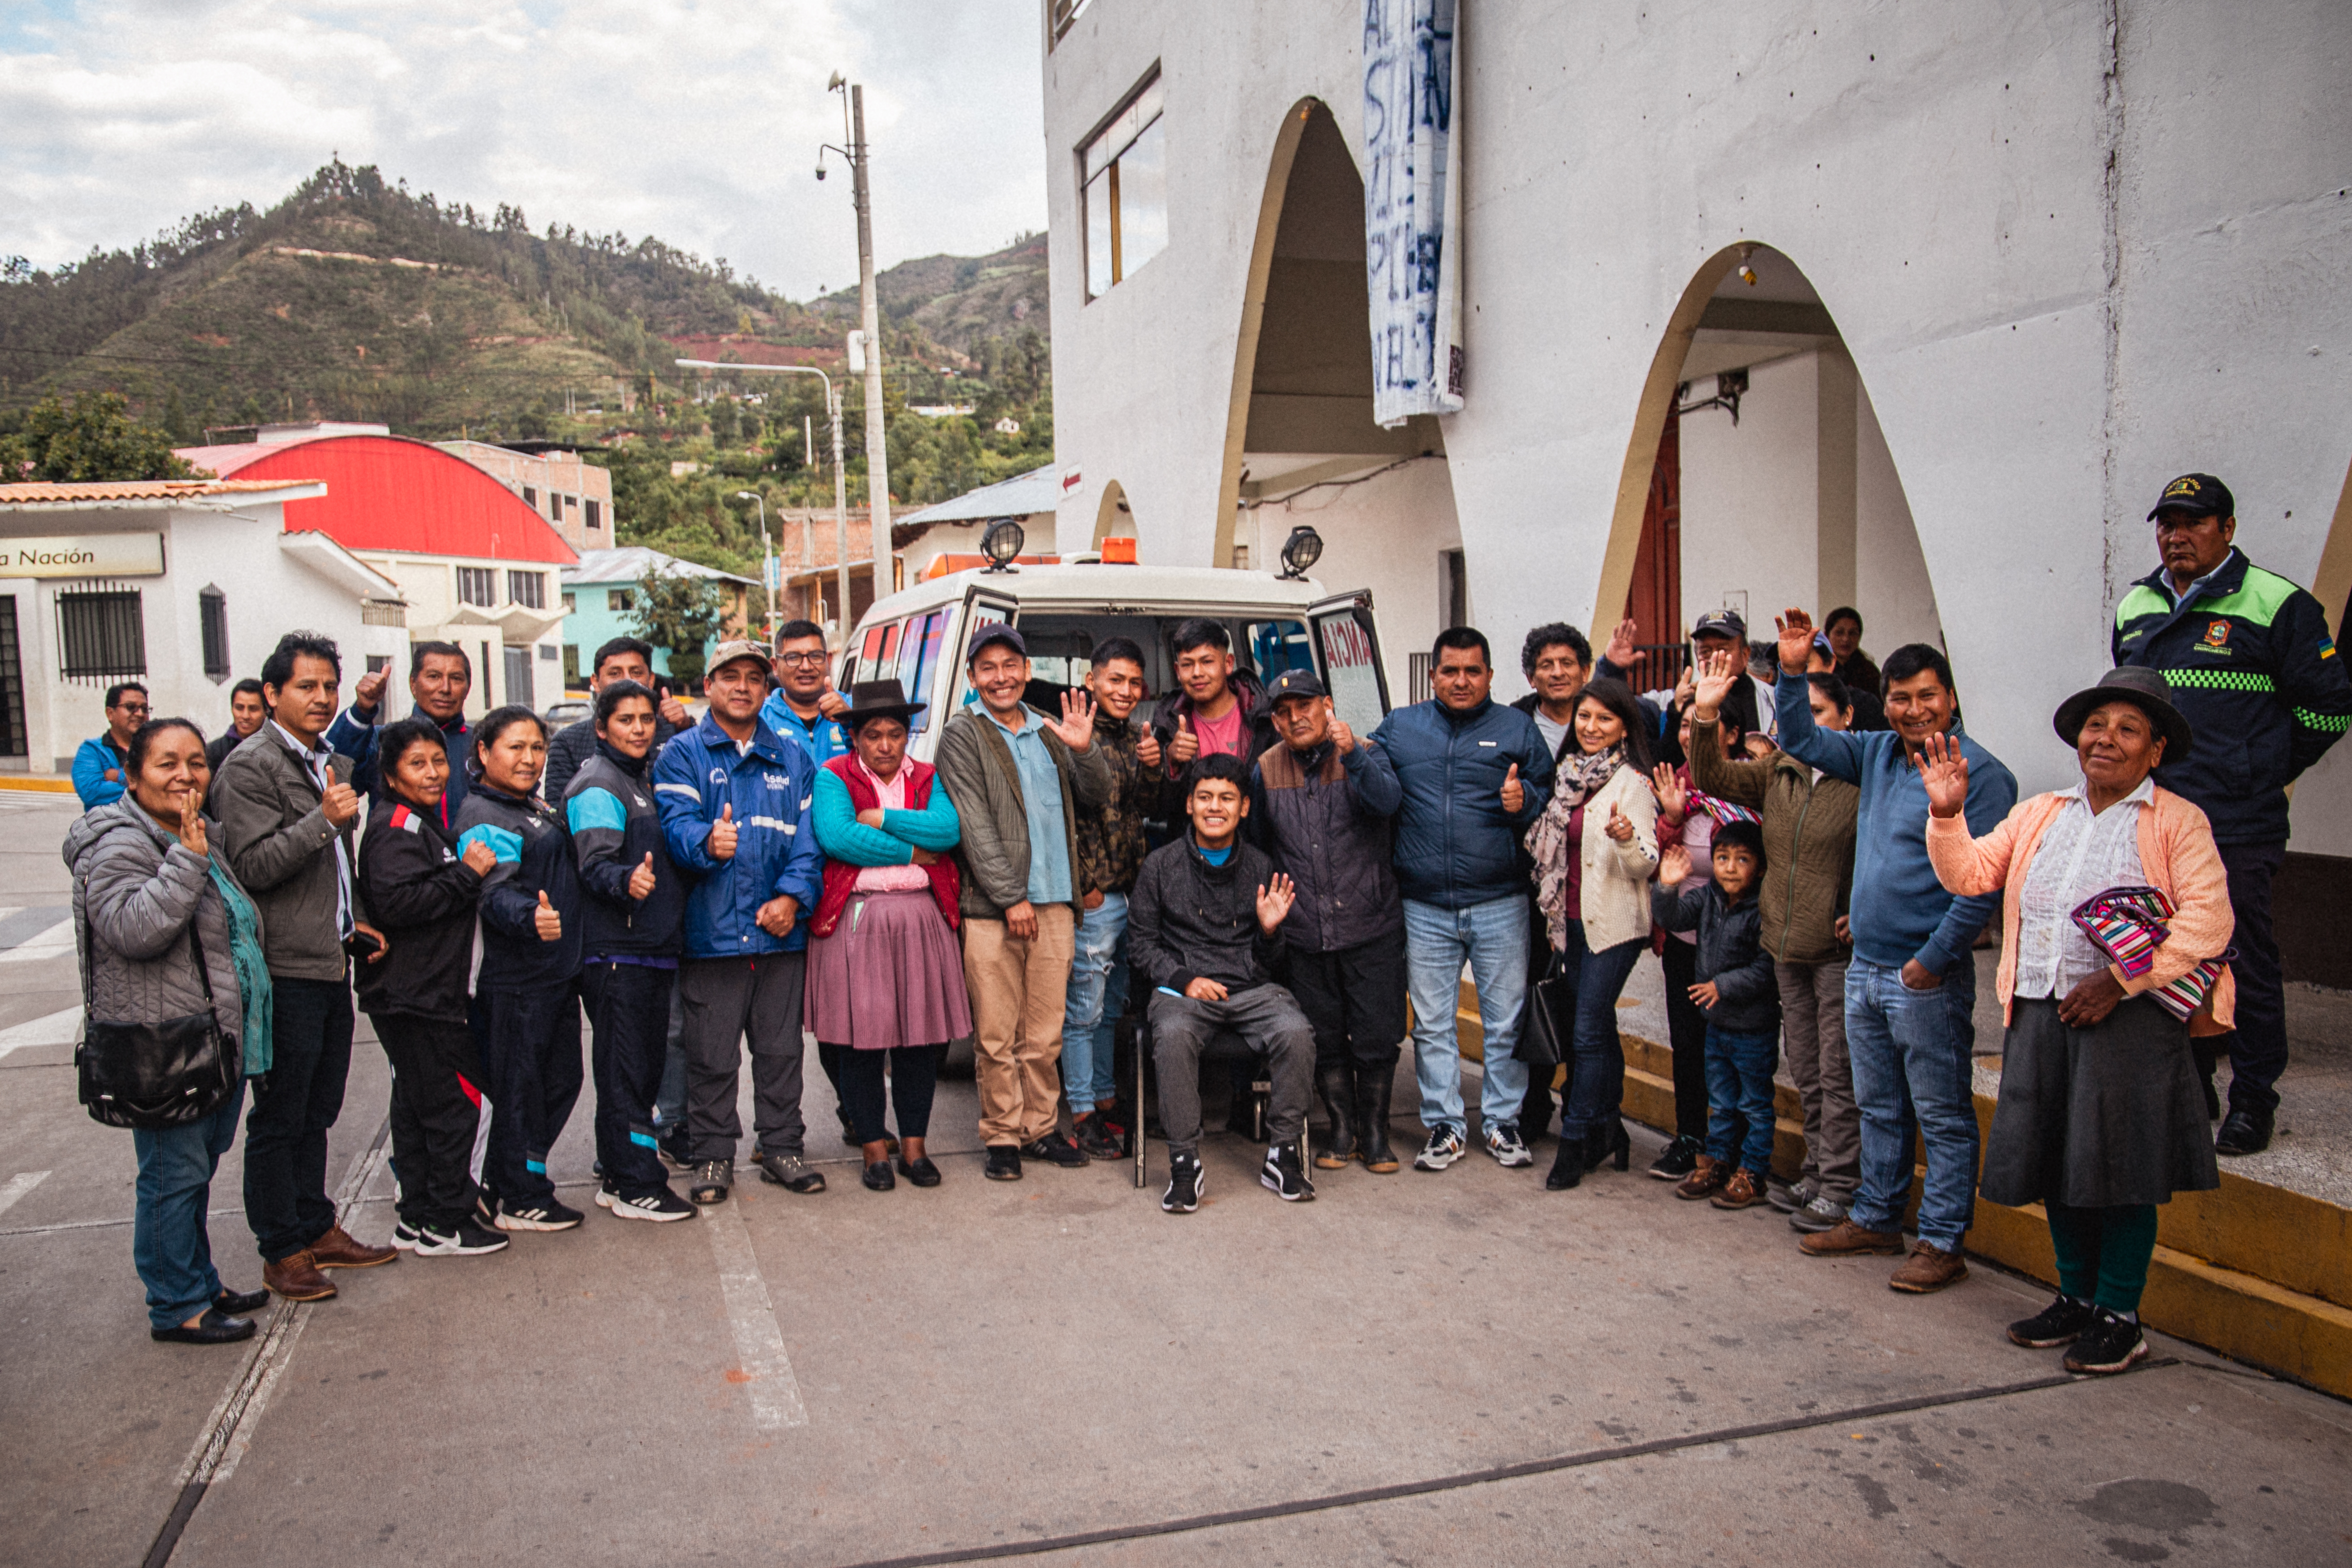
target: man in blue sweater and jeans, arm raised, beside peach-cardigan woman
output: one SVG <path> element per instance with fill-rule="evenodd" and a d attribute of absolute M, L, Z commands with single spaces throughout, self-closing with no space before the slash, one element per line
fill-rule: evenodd
<path fill-rule="evenodd" d="M 1893 729 L 1820 729 L 1804 677 L 1813 618 L 1780 616 L 1780 750 L 1830 778 L 1860 785 L 1853 825 L 1853 959 L 1846 964 L 1846 1051 L 1863 1107 L 1863 1187 L 1832 1229 L 1799 1246 L 1816 1258 L 1903 1255 L 1912 1133 L 1926 1143 L 1919 1241 L 1886 1281 L 1924 1295 L 1959 1284 L 1959 1239 L 1976 1213 L 1976 933 L 1999 893 L 1952 898 L 1926 858 L 1926 785 L 1915 757 L 1947 733 L 1969 759 L 1969 832 L 1999 827 L 2018 804 L 2018 780 L 1959 726 L 1952 665 L 1924 642 L 1886 656 L 1886 722 Z"/>

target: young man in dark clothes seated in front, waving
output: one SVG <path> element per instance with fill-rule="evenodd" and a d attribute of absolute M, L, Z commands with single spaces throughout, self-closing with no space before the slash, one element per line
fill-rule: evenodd
<path fill-rule="evenodd" d="M 1249 764 L 1240 757 L 1192 762 L 1183 809 L 1190 832 L 1143 860 L 1127 907 L 1129 957 L 1152 987 L 1152 1060 L 1169 1138 L 1169 1190 L 1160 1206 L 1200 1208 L 1200 1058 L 1221 1034 L 1268 1058 L 1272 1105 L 1258 1180 L 1287 1204 L 1312 1199 L 1298 1145 L 1315 1079 L 1315 1027 L 1272 978 L 1291 879 L 1240 839 L 1249 816 Z"/>

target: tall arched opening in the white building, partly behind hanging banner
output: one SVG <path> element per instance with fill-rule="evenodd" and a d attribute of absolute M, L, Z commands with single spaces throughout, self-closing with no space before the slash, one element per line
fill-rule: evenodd
<path fill-rule="evenodd" d="M 1275 136 L 1251 247 L 1225 418 L 1214 567 L 1275 567 L 1284 538 L 1324 538 L 1317 581 L 1369 588 L 1390 691 L 1465 595 L 1449 595 L 1461 524 L 1435 418 L 1371 418 L 1364 179 L 1331 108 L 1301 99 Z"/>

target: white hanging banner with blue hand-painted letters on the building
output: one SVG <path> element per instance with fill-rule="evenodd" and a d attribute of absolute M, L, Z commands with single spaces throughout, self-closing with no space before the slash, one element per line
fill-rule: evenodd
<path fill-rule="evenodd" d="M 1364 0 L 1364 266 L 1371 416 L 1458 414 L 1458 0 Z"/>

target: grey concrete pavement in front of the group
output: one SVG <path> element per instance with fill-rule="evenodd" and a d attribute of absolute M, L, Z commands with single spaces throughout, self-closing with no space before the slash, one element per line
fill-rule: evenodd
<path fill-rule="evenodd" d="M 0 905 L 64 903 L 66 820 L 0 816 Z M 73 999 L 71 954 L 0 964 L 0 1030 Z M 2352 1408 L 2171 1342 L 2058 1378 L 2002 1338 L 2042 1293 L 1985 1267 L 1900 1298 L 1891 1260 L 1804 1260 L 1639 1164 L 1569 1194 L 1543 1164 L 1357 1168 L 1284 1206 L 1232 1138 L 1176 1220 L 1124 1164 L 981 1180 L 969 1081 L 946 1185 L 870 1194 L 814 1063 L 821 1197 L 750 1180 L 691 1222 L 346 1272 L 266 1314 L 266 1359 L 153 1345 L 129 1135 L 66 1058 L 0 1056 L 0 1561 L 143 1561 L 174 1509 L 172 1563 L 240 1566 L 2352 1556 Z M 383 1093 L 362 1037 L 329 1178 L 362 1237 Z M 553 1161 L 581 1206 L 586 1131 L 583 1103 Z M 254 1286 L 238 1152 L 212 1208 Z"/>

